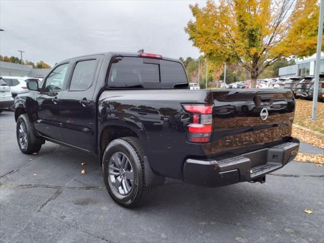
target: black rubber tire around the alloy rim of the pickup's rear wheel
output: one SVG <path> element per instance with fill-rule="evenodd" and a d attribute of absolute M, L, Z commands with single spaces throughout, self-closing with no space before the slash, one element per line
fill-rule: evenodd
<path fill-rule="evenodd" d="M 129 159 L 128 161 L 131 164 L 131 169 L 133 170 L 133 183 L 130 192 L 126 195 L 119 192 L 121 189 L 117 191 L 117 189 L 114 188 L 114 184 L 111 181 L 111 176 L 114 177 L 115 175 L 109 174 L 109 165 L 112 163 L 111 159 L 113 155 L 118 153 L 125 154 L 127 156 Z M 153 196 L 155 187 L 145 186 L 143 154 L 143 147 L 139 139 L 134 137 L 115 139 L 111 141 L 105 149 L 102 159 L 104 182 L 109 195 L 116 201 L 117 204 L 123 207 L 134 208 L 140 206 L 150 200 Z M 120 178 L 121 177 L 123 176 L 120 175 Z M 120 182 L 119 185 L 120 188 Z"/>

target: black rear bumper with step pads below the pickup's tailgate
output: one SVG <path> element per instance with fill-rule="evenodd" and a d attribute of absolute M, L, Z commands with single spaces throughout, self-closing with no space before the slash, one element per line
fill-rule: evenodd
<path fill-rule="evenodd" d="M 232 157 L 215 160 L 189 158 L 184 163 L 183 180 L 207 187 L 253 181 L 284 167 L 296 157 L 298 150 L 299 140 L 293 138 L 291 142 Z"/>

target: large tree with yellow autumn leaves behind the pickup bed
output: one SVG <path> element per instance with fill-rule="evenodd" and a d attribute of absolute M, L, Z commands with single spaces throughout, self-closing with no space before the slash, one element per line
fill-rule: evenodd
<path fill-rule="evenodd" d="M 284 57 L 315 53 L 317 0 L 209 0 L 206 7 L 190 5 L 194 20 L 185 31 L 206 57 L 244 66 L 252 87 L 258 76 Z"/>

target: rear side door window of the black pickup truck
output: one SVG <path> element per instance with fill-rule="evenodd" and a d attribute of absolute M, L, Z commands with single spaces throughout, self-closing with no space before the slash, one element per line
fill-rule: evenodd
<path fill-rule="evenodd" d="M 93 82 L 97 60 L 78 61 L 72 74 L 69 90 L 87 90 Z"/>

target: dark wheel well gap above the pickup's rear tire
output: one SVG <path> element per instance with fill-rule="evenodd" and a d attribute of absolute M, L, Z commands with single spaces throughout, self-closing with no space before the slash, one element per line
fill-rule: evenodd
<path fill-rule="evenodd" d="M 136 137 L 137 134 L 126 127 L 121 126 L 107 126 L 102 130 L 100 136 L 100 150 L 103 151 L 105 147 L 114 139 L 122 137 Z"/>

